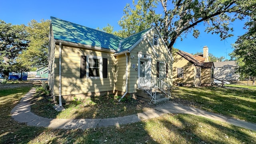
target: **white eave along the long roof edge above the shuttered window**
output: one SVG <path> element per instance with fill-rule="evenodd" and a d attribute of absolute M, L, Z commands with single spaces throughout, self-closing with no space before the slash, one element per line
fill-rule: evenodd
<path fill-rule="evenodd" d="M 73 43 L 73 42 L 67 42 L 67 41 L 64 41 L 64 40 L 56 40 L 54 39 L 54 42 L 55 43 L 62 43 L 62 44 L 66 44 L 66 45 L 70 45 L 70 46 L 77 46 L 77 47 L 80 47 L 80 48 L 87 48 L 87 49 L 91 49 L 91 50 L 99 50 L 99 51 L 103 51 L 103 52 L 111 52 L 111 53 L 115 53 L 116 51 L 115 50 L 108 50 L 108 49 L 105 49 L 105 48 L 100 48 L 100 47 L 97 47 L 97 46 L 90 46 L 90 45 L 85 45 L 85 44 L 78 44 L 78 43 Z"/>

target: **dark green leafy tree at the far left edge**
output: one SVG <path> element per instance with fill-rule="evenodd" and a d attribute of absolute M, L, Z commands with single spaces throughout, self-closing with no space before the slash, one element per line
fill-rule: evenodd
<path fill-rule="evenodd" d="M 16 67 L 17 56 L 28 46 L 28 33 L 25 25 L 12 25 L 0 20 L 0 73 L 8 76 L 9 72 L 20 71 Z"/>

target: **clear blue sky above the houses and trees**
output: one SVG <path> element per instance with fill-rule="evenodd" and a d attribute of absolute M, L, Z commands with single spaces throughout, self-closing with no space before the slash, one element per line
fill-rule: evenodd
<path fill-rule="evenodd" d="M 114 26 L 114 30 L 120 30 L 118 20 L 123 16 L 126 3 L 132 4 L 132 0 L 0 0 L 0 20 L 26 25 L 32 19 L 39 22 L 54 16 L 90 28 L 103 28 L 110 24 Z M 205 27 L 200 24 L 199 38 L 188 34 L 183 41 L 178 39 L 174 47 L 196 53 L 202 52 L 202 48 L 208 46 L 209 52 L 214 56 L 227 56 L 229 59 L 228 53 L 233 51 L 231 44 L 236 41 L 237 36 L 245 32 L 242 29 L 243 22 L 236 20 L 232 25 L 234 36 L 220 41 L 218 35 L 205 33 Z"/>

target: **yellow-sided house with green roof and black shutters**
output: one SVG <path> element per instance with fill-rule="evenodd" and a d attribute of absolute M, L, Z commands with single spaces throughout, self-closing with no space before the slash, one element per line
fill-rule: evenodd
<path fill-rule="evenodd" d="M 172 85 L 173 58 L 155 26 L 122 38 L 51 17 L 48 61 L 54 100 L 136 96 L 141 77 Z"/>

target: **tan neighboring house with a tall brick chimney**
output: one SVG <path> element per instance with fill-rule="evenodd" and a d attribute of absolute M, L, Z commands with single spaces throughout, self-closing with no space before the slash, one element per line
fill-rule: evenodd
<path fill-rule="evenodd" d="M 174 55 L 173 84 L 176 86 L 202 86 L 213 82 L 213 62 L 209 62 L 208 47 L 202 55 L 193 56 L 182 50 Z"/>

